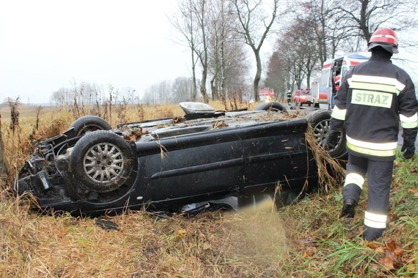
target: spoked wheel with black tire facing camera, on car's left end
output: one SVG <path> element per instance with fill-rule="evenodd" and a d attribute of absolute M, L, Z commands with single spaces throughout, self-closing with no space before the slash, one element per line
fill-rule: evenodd
<path fill-rule="evenodd" d="M 70 170 L 79 187 L 98 193 L 111 192 L 131 176 L 134 159 L 125 139 L 111 131 L 96 130 L 81 137 L 74 146 Z"/>

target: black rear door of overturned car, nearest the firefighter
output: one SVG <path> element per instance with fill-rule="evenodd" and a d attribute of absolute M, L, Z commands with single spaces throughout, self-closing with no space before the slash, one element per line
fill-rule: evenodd
<path fill-rule="evenodd" d="M 308 151 L 304 119 L 266 123 L 248 131 L 243 137 L 245 157 L 245 194 L 274 193 L 282 189 L 299 190 L 306 180 Z"/>

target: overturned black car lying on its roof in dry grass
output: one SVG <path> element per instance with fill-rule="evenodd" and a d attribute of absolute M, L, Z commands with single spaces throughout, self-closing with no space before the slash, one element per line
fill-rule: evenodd
<path fill-rule="evenodd" d="M 330 111 L 292 110 L 276 102 L 254 111 L 180 105 L 182 117 L 116 129 L 96 116 L 79 118 L 62 135 L 38 144 L 14 191 L 31 193 L 38 209 L 96 216 L 143 207 L 188 211 L 222 203 L 237 208 L 266 195 L 275 195 L 280 207 L 317 186 L 305 132 L 313 126 L 323 146 Z M 341 132 L 329 153 L 345 152 Z"/>

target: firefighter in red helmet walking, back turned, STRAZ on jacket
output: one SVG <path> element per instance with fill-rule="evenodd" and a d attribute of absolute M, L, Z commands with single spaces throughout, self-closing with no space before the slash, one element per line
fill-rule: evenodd
<path fill-rule="evenodd" d="M 377 29 L 368 42 L 371 57 L 350 69 L 335 98 L 327 144 L 337 145 L 345 121 L 348 163 L 340 217 L 352 224 L 367 174 L 367 208 L 363 238 L 378 239 L 386 228 L 393 161 L 399 120 L 403 129 L 401 152 L 406 159 L 415 153 L 418 104 L 411 77 L 391 62 L 398 53 L 395 32 Z"/>

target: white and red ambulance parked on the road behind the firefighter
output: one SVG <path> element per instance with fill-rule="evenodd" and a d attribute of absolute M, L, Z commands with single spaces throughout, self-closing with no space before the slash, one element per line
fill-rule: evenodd
<path fill-rule="evenodd" d="M 313 96 L 313 106 L 320 107 L 319 105 L 322 104 L 321 106 L 326 106 L 326 109 L 331 110 L 334 107 L 334 96 L 337 93 L 336 77 L 339 82 L 351 67 L 366 62 L 370 56 L 371 52 L 354 52 L 325 61 L 322 65 L 319 90 Z"/>

